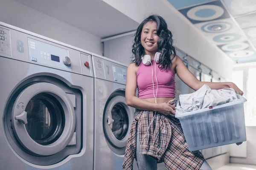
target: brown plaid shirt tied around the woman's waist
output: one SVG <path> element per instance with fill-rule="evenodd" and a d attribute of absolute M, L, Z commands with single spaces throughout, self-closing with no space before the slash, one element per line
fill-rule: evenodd
<path fill-rule="evenodd" d="M 177 100 L 173 99 L 168 103 L 176 105 L 176 102 Z M 201 152 L 189 151 L 179 119 L 175 118 L 173 114 L 168 116 L 159 112 L 155 112 L 155 114 L 155 125 L 153 126 L 151 122 L 154 111 L 136 111 L 126 145 L 123 170 L 133 169 L 137 132 L 140 133 L 141 154 L 151 156 L 157 160 L 157 163 L 164 161 L 168 170 L 199 170 L 204 156 Z"/>

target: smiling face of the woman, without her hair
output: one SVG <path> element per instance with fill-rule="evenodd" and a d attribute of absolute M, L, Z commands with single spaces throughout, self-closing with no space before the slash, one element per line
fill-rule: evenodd
<path fill-rule="evenodd" d="M 141 45 L 144 48 L 145 54 L 152 54 L 158 51 L 157 41 L 159 37 L 157 35 L 157 23 L 149 21 L 145 23 L 141 32 Z"/>

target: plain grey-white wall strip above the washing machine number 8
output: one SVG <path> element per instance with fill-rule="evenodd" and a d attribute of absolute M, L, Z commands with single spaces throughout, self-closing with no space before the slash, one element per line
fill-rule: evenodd
<path fill-rule="evenodd" d="M 99 37 L 13 0 L 0 0 L 0 21 L 99 55 L 103 52 Z"/>

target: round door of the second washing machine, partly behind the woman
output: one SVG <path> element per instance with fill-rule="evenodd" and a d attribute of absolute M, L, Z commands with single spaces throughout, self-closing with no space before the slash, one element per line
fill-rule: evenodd
<path fill-rule="evenodd" d="M 126 147 L 134 110 L 128 107 L 125 96 L 114 96 L 107 102 L 103 117 L 105 136 L 113 147 Z"/>

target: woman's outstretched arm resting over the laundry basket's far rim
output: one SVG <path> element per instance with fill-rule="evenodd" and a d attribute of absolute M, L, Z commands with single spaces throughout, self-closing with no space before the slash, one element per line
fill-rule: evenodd
<path fill-rule="evenodd" d="M 176 55 L 175 57 L 175 70 L 178 77 L 190 88 L 197 91 L 204 84 L 208 85 L 211 89 L 233 88 L 236 93 L 243 95 L 244 93 L 233 82 L 200 82 L 190 71 L 186 68 L 182 59 Z"/>

